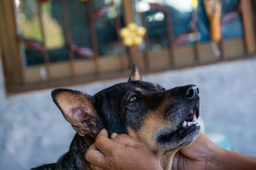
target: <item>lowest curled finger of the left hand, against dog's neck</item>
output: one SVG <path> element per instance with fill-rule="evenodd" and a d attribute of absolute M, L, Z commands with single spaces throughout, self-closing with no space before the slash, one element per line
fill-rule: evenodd
<path fill-rule="evenodd" d="M 101 153 L 93 143 L 85 153 L 85 159 L 91 164 L 104 167 L 106 164 L 105 156 Z"/>

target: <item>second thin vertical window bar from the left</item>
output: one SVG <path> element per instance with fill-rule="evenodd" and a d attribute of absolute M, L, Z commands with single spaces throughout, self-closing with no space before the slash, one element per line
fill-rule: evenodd
<path fill-rule="evenodd" d="M 67 50 L 68 50 L 68 64 L 70 69 L 70 75 L 71 75 L 71 78 L 76 78 L 76 71 L 74 66 L 75 57 L 74 57 L 74 52 L 71 49 L 71 46 L 73 45 L 73 43 L 72 43 L 70 25 L 68 21 L 67 3 L 66 3 L 66 0 L 61 0 L 60 3 L 61 3 L 61 10 L 62 10 L 64 32 L 65 32 L 65 37 L 66 37 L 67 47 L 68 47 Z"/>

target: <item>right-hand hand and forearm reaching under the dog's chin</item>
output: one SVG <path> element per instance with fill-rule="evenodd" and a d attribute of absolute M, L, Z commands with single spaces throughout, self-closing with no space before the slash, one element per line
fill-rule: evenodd
<path fill-rule="evenodd" d="M 175 154 L 172 169 L 256 169 L 256 158 L 221 148 L 200 133 Z"/>

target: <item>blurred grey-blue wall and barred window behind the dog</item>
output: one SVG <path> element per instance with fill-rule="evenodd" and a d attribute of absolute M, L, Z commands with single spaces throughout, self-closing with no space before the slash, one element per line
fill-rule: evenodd
<path fill-rule="evenodd" d="M 75 134 L 51 99 L 127 81 L 196 84 L 202 131 L 256 157 L 255 0 L 0 1 L 0 169 L 56 162 Z"/>

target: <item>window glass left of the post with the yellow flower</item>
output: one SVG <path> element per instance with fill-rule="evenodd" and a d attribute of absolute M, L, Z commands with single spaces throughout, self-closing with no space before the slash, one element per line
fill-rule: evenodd
<path fill-rule="evenodd" d="M 50 62 L 68 60 L 68 45 L 66 43 L 68 30 L 65 30 L 63 23 L 64 13 L 61 8 L 61 1 L 45 1 L 40 5 L 40 9 L 42 11 L 42 25 L 49 60 Z M 36 2 L 38 1 L 16 0 L 16 16 L 20 38 L 27 39 L 29 42 L 33 42 L 33 45 L 40 46 L 42 30 L 40 29 Z M 67 17 L 72 43 L 78 47 L 92 49 L 92 33 L 90 32 L 88 6 L 86 6 L 88 2 L 79 0 L 65 0 L 65 2 L 67 3 Z M 120 25 L 122 25 L 122 6 L 121 0 L 113 2 L 113 4 L 110 4 L 109 0 L 92 1 L 93 11 L 98 10 L 105 4 L 108 6 L 106 15 L 100 16 L 92 23 L 97 33 L 100 57 L 103 55 L 118 55 L 119 53 L 115 18 L 118 17 Z M 44 63 L 44 57 L 40 50 L 28 48 L 24 41 L 20 42 L 26 66 Z M 80 58 L 76 52 L 74 52 L 74 56 L 76 59 Z"/>

